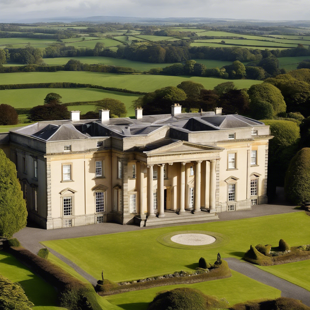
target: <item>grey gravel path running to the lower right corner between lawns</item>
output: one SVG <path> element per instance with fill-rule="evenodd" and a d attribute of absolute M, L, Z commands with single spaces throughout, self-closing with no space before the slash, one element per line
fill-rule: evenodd
<path fill-rule="evenodd" d="M 259 281 L 263 284 L 272 286 L 281 290 L 282 297 L 289 297 L 301 300 L 305 305 L 310 307 L 310 292 L 304 288 L 281 279 L 273 274 L 259 269 L 255 265 L 244 262 L 237 258 L 224 258 L 230 269 L 244 274 L 245 276 Z"/>

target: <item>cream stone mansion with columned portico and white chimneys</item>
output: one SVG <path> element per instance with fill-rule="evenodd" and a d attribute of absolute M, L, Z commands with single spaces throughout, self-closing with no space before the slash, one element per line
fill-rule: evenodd
<path fill-rule="evenodd" d="M 28 217 L 46 229 L 217 219 L 267 203 L 269 126 L 215 112 L 37 122 L 0 134 Z"/>

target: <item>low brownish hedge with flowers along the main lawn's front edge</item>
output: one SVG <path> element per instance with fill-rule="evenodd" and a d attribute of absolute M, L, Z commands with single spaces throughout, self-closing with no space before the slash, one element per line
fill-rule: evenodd
<path fill-rule="evenodd" d="M 204 281 L 218 280 L 231 277 L 231 272 L 228 267 L 228 263 L 222 260 L 220 265 L 211 265 L 209 272 L 204 272 L 190 277 L 173 277 L 165 278 L 153 281 L 137 282 L 126 285 L 117 285 L 115 289 L 107 291 L 107 286 L 99 285 L 96 286 L 96 291 L 100 296 L 114 295 L 134 290 L 144 290 L 151 287 L 164 286 L 164 285 L 175 285 L 175 284 L 192 284 Z M 112 282 L 112 281 L 109 281 Z M 107 283 L 109 284 L 109 283 Z M 111 283 L 110 283 L 111 284 Z"/>

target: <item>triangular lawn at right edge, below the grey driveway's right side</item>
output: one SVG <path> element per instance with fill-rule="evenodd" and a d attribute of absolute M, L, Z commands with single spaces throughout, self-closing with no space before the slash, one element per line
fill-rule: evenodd
<path fill-rule="evenodd" d="M 309 244 L 309 242 L 307 242 L 307 244 Z M 287 263 L 274 266 L 257 266 L 257 267 L 310 291 L 309 259 L 295 263 Z"/>

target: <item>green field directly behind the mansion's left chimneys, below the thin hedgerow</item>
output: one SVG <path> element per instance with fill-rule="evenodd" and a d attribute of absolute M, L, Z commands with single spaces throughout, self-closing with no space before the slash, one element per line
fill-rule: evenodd
<path fill-rule="evenodd" d="M 113 98 L 122 101 L 127 108 L 128 116 L 135 115 L 135 111 L 129 107 L 132 101 L 139 96 L 121 93 L 116 91 L 104 91 L 94 88 L 28 88 L 28 89 L 12 89 L 0 91 L 0 104 L 6 103 L 14 108 L 32 108 L 43 104 L 44 98 L 50 92 L 55 92 L 62 96 L 61 101 L 77 102 L 77 101 L 96 101 L 103 98 Z M 23 98 L 23 100 L 20 100 Z M 72 106 L 69 110 L 81 110 L 84 114 L 87 111 L 93 111 L 94 105 Z"/>

